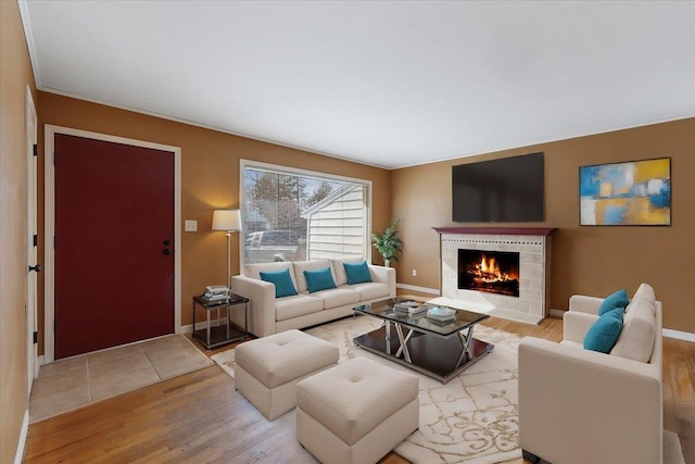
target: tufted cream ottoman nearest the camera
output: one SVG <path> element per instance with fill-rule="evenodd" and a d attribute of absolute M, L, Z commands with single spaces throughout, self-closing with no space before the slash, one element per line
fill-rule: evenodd
<path fill-rule="evenodd" d="M 296 385 L 296 439 L 324 464 L 376 463 L 418 427 L 418 378 L 355 358 Z"/>

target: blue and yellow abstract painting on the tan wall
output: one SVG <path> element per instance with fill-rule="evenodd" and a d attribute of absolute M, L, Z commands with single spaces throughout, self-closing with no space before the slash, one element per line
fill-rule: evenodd
<path fill-rule="evenodd" d="M 671 159 L 579 168 L 580 225 L 671 225 Z"/>

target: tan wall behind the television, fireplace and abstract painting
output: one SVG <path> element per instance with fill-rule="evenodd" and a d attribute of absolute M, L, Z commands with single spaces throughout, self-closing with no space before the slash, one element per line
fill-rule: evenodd
<path fill-rule="evenodd" d="M 393 214 L 403 217 L 405 242 L 399 283 L 440 287 L 439 235 L 432 227 L 460 225 L 452 222 L 453 165 L 536 151 L 545 153 L 543 224 L 558 228 L 552 239 L 551 308 L 566 310 L 573 293 L 631 293 L 646 281 L 664 302 L 665 327 L 695 333 L 695 118 L 394 171 Z M 579 226 L 580 166 L 661 156 L 671 158 L 671 226 Z"/>

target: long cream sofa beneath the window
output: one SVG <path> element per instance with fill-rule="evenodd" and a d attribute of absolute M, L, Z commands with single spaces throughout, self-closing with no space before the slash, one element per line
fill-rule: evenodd
<path fill-rule="evenodd" d="M 352 315 L 356 305 L 395 298 L 395 269 L 391 267 L 369 264 L 371 283 L 348 285 L 343 263 L 362 261 L 348 259 L 248 264 L 243 276 L 231 277 L 231 291 L 250 300 L 249 331 L 256 337 L 309 327 Z M 330 268 L 337 288 L 309 293 L 303 272 L 326 267 Z M 299 294 L 276 298 L 275 285 L 262 280 L 261 272 L 286 268 Z"/>

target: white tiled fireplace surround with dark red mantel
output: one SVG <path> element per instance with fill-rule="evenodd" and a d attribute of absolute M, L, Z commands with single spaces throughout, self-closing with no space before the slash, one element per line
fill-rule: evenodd
<path fill-rule="evenodd" d="M 439 304 L 538 324 L 548 312 L 551 234 L 541 227 L 434 227 L 440 234 Z M 519 253 L 519 298 L 458 289 L 458 249 Z"/>

